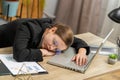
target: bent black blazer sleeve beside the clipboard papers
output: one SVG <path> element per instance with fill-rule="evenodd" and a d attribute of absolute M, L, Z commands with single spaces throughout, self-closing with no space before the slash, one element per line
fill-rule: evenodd
<path fill-rule="evenodd" d="M 13 45 L 13 57 L 17 61 L 43 61 L 42 52 L 39 49 L 29 48 L 31 39 L 30 30 L 27 26 L 19 25 Z"/>

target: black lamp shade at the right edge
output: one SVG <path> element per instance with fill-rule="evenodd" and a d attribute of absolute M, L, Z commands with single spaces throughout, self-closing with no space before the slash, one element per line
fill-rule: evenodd
<path fill-rule="evenodd" d="M 108 17 L 117 22 L 117 23 L 120 23 L 120 7 L 117 8 L 117 9 L 114 9 L 112 10 L 109 14 L 108 14 Z"/>

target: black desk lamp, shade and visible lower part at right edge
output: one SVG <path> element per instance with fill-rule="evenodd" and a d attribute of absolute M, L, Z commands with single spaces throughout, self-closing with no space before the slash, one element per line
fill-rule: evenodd
<path fill-rule="evenodd" d="M 116 22 L 120 24 L 120 7 L 116 8 L 114 10 L 112 10 L 109 14 L 108 17 Z M 117 38 L 117 45 L 118 45 L 118 60 L 120 60 L 120 38 Z"/>

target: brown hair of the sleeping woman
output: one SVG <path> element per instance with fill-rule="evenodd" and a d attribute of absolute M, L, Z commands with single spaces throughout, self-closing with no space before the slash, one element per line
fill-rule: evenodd
<path fill-rule="evenodd" d="M 71 46 L 73 43 L 73 32 L 68 25 L 56 23 L 52 27 L 57 27 L 56 34 L 65 42 L 67 47 Z"/>

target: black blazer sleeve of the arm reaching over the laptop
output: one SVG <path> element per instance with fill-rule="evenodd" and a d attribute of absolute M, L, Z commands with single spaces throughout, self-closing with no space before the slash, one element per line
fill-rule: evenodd
<path fill-rule="evenodd" d="M 79 48 L 85 48 L 87 50 L 87 53 L 86 53 L 87 55 L 90 52 L 90 47 L 88 46 L 88 44 L 82 39 L 79 39 L 77 37 L 74 37 L 74 41 L 71 47 L 75 48 L 76 53 L 78 53 Z"/>

